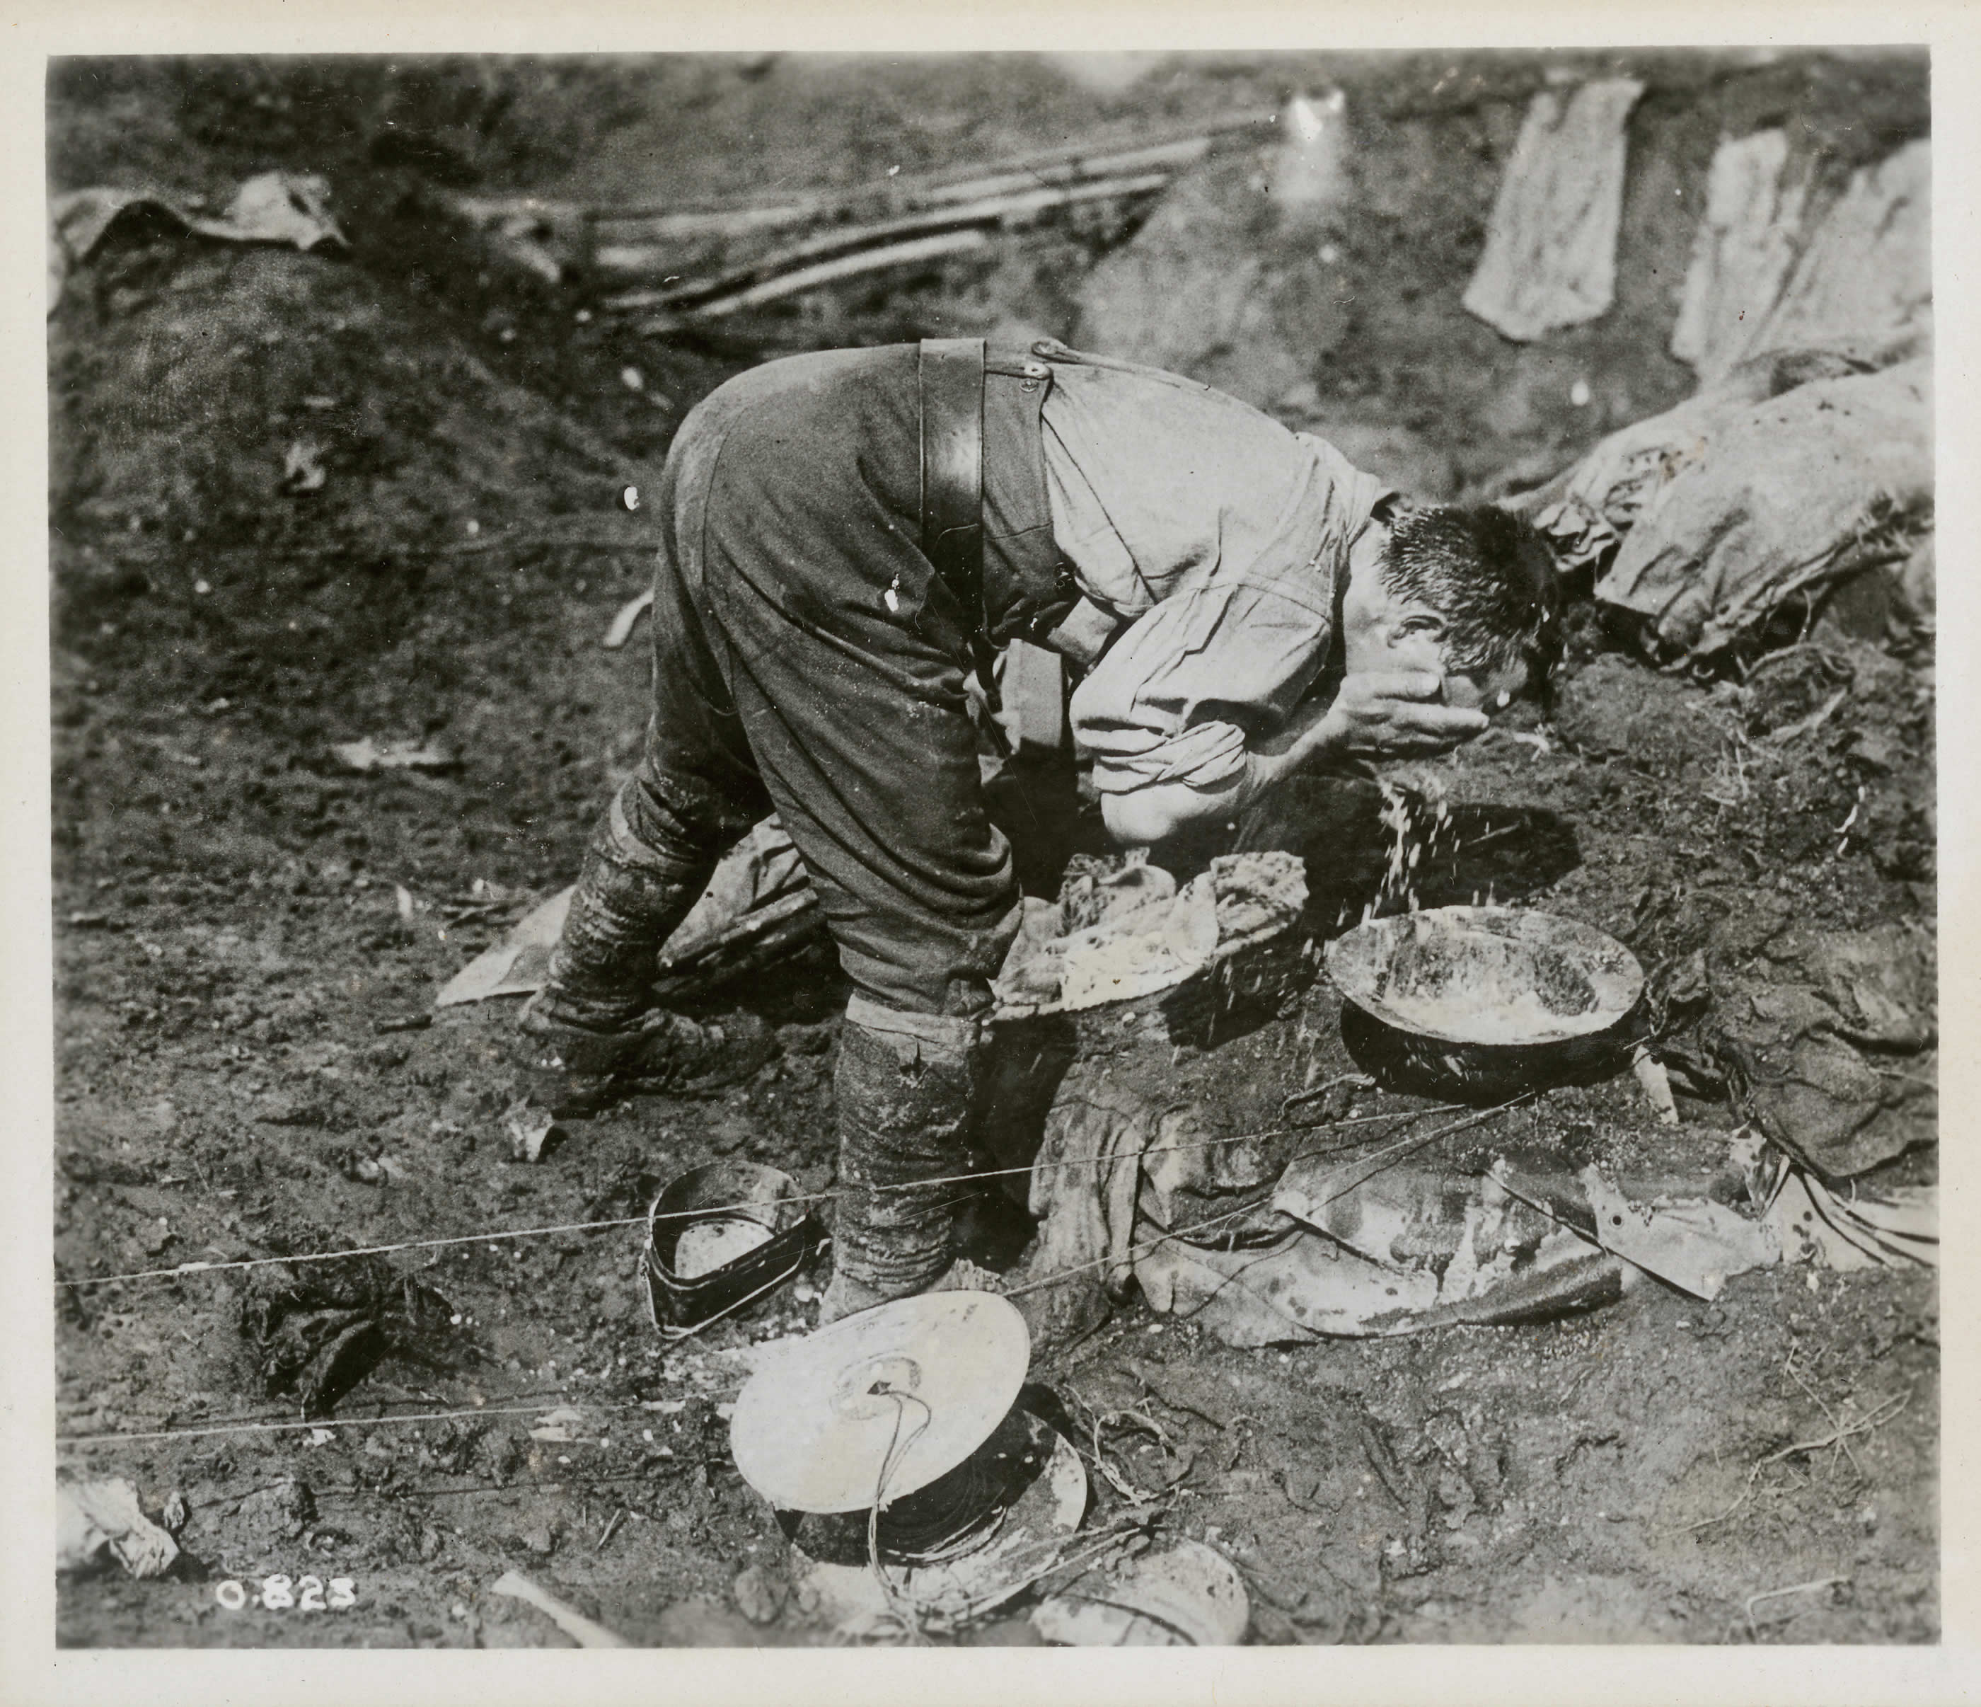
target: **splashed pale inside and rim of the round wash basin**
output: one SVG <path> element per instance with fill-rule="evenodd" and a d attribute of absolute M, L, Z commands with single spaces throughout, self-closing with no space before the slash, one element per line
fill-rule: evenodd
<path fill-rule="evenodd" d="M 1615 938 L 1512 906 L 1371 920 L 1327 944 L 1327 973 L 1365 1013 L 1442 1043 L 1589 1037 L 1644 993 L 1644 969 Z"/>

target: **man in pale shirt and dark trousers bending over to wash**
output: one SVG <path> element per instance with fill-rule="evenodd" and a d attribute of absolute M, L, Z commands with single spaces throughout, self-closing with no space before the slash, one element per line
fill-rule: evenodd
<path fill-rule="evenodd" d="M 990 979 L 1020 918 L 965 674 L 1014 636 L 1072 698 L 1109 835 L 1232 823 L 1343 759 L 1448 751 L 1543 656 L 1555 577 L 1494 508 L 1420 506 L 1230 397 L 1060 343 L 773 361 L 681 424 L 654 718 L 600 825 L 531 1065 L 565 1104 L 769 1053 L 652 1007 L 654 956 L 775 809 L 854 983 L 822 1320 L 955 1251 Z"/>

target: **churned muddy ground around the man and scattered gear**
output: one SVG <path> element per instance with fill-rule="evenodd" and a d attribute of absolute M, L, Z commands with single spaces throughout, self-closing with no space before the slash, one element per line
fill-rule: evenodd
<path fill-rule="evenodd" d="M 1517 71 L 1474 71 L 1470 105 L 1442 131 L 1422 121 L 1410 147 L 1444 139 L 1494 159 L 1531 83 Z M 751 1084 L 614 1108 L 537 1166 L 511 1160 L 501 1128 L 511 1011 L 406 1029 L 531 896 L 569 880 L 630 765 L 646 660 L 598 646 L 642 575 L 644 517 L 620 494 L 652 476 L 679 414 L 753 359 L 741 333 L 658 345 L 477 278 L 420 218 L 422 188 L 450 172 L 582 188 L 586 161 L 624 174 L 654 159 L 642 125 L 697 190 L 806 167 L 858 180 L 880 165 L 878 131 L 846 119 L 844 67 L 674 67 L 672 105 L 626 75 L 608 79 L 614 105 L 600 75 L 545 73 L 493 119 L 458 71 L 392 83 L 351 67 L 71 65 L 52 85 L 59 188 L 133 174 L 218 188 L 258 165 L 317 167 L 355 236 L 351 258 L 305 258 L 139 232 L 52 321 L 59 1277 L 620 1221 L 711 1156 L 830 1186 L 844 991 L 818 958 L 725 997 L 779 1027 L 781 1053 Z M 1512 87 L 1496 93 L 1496 77 Z M 915 117 L 899 127 L 915 165 L 965 143 L 1058 141 L 1074 113 L 1191 117 L 1274 75 L 1210 67 L 1111 97 L 1042 79 L 1028 65 L 949 83 L 893 67 L 882 105 Z M 1381 87 L 1403 103 L 1430 81 L 1403 67 Z M 1864 105 L 1852 89 L 1876 109 L 1864 131 L 1916 123 L 1904 99 Z M 1684 87 L 1666 93 L 1656 123 L 1684 109 Z M 452 155 L 380 149 L 394 111 Z M 519 127 L 519 111 L 559 123 Z M 755 161 L 683 141 L 693 125 L 749 135 L 773 111 L 808 115 L 810 131 Z M 838 131 L 820 135 L 828 119 Z M 1375 208 L 1367 230 L 1401 244 L 1401 218 Z M 1436 218 L 1408 242 L 1440 256 L 1454 297 L 1484 208 Z M 1030 266 L 998 311 L 1050 317 L 1050 299 L 1026 295 L 1050 276 Z M 1426 262 L 1432 329 L 1452 315 L 1438 278 Z M 771 327 L 765 347 L 903 319 L 945 331 L 985 287 L 927 280 L 842 303 L 844 321 Z M 1403 345 L 1407 327 L 1387 323 L 1399 313 L 1381 305 L 1365 349 Z M 1309 416 L 1408 426 L 1448 486 L 1478 486 L 1541 452 L 1565 458 L 1618 408 L 1682 395 L 1662 343 L 1632 349 L 1599 353 L 1622 375 L 1599 389 L 1603 418 L 1535 381 L 1498 428 L 1476 412 L 1440 420 L 1422 402 L 1438 363 L 1468 398 L 1478 363 L 1430 333 L 1408 365 L 1349 365 L 1339 391 L 1323 371 L 1302 397 Z M 299 440 L 327 468 L 319 490 L 285 490 Z M 1807 640 L 1813 670 L 1712 682 L 1656 674 L 1583 621 L 1551 716 L 1529 708 L 1405 771 L 1549 825 L 1545 882 L 1541 843 L 1515 841 L 1446 872 L 1442 898 L 1529 892 L 1650 966 L 1702 950 L 1733 979 L 1791 924 L 1929 928 L 1929 640 L 1894 648 L 1836 619 Z M 1759 741 L 1830 682 L 1852 692 L 1828 720 Z M 361 736 L 424 736 L 460 765 L 343 773 L 327 747 Z M 1319 981 L 1187 1077 L 1246 1086 L 1226 1110 L 1242 1130 L 1331 1069 L 1337 1011 Z M 1391 1106 L 1407 1098 L 1365 1092 L 1359 1112 Z M 1551 1092 L 1496 1130 L 1718 1154 L 1737 1124 L 1723 1100 L 1680 1108 L 1680 1132 L 1660 1132 L 1624 1077 Z M 1931 1156 L 1902 1166 L 1929 1178 Z M 796 1608 L 753 1622 L 731 1594 L 751 1564 L 775 1576 L 782 1542 L 729 1461 L 721 1416 L 743 1378 L 731 1352 L 804 1326 L 810 1289 L 664 1350 L 638 1245 L 638 1227 L 608 1225 L 382 1259 L 402 1301 L 390 1346 L 319 1429 L 289 1427 L 295 1396 L 269 1392 L 244 1334 L 265 1275 L 59 1289 L 61 1465 L 129 1477 L 153 1511 L 176 1493 L 186 1511 L 168 1578 L 63 1584 L 59 1640 L 563 1644 L 489 1594 L 507 1568 L 636 1642 L 824 1640 Z M 1238 1562 L 1256 1642 L 1929 1642 L 1937 1344 L 1924 1271 L 1781 1267 L 1714 1305 L 1648 1283 L 1571 1320 L 1264 1352 L 1129 1305 L 1034 1376 L 1076 1416 L 1153 1416 L 1161 1435 L 1113 1433 L 1109 1463 L 1139 1487 L 1175 1483 L 1167 1527 Z M 561 1404 L 586 1416 L 574 1437 L 533 1437 Z M 434 1412 L 466 1416 L 404 1420 Z M 1117 1495 L 1094 1479 L 1103 1513 Z M 218 1582 L 252 1590 L 277 1572 L 349 1578 L 357 1604 L 216 1600 Z M 751 1608 L 767 1610 L 761 1596 Z M 1014 1616 L 971 1640 L 1030 1636 Z"/>

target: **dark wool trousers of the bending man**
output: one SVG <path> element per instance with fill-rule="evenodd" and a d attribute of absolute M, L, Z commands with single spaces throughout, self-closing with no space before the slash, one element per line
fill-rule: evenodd
<path fill-rule="evenodd" d="M 1018 884 L 965 698 L 971 619 L 919 545 L 915 355 L 767 363 L 681 424 L 656 494 L 654 714 L 553 964 L 553 985 L 604 1021 L 771 809 L 858 995 L 989 1007 Z M 1058 567 L 1044 375 L 992 361 L 987 377 L 987 589 L 1006 609 Z"/>

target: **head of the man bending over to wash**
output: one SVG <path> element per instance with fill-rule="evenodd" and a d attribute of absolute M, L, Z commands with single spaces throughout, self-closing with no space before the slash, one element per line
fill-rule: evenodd
<path fill-rule="evenodd" d="M 1498 712 L 1553 666 L 1559 630 L 1547 541 L 1492 504 L 1391 500 L 1349 553 L 1351 674 L 1434 670 L 1448 704 Z"/>

